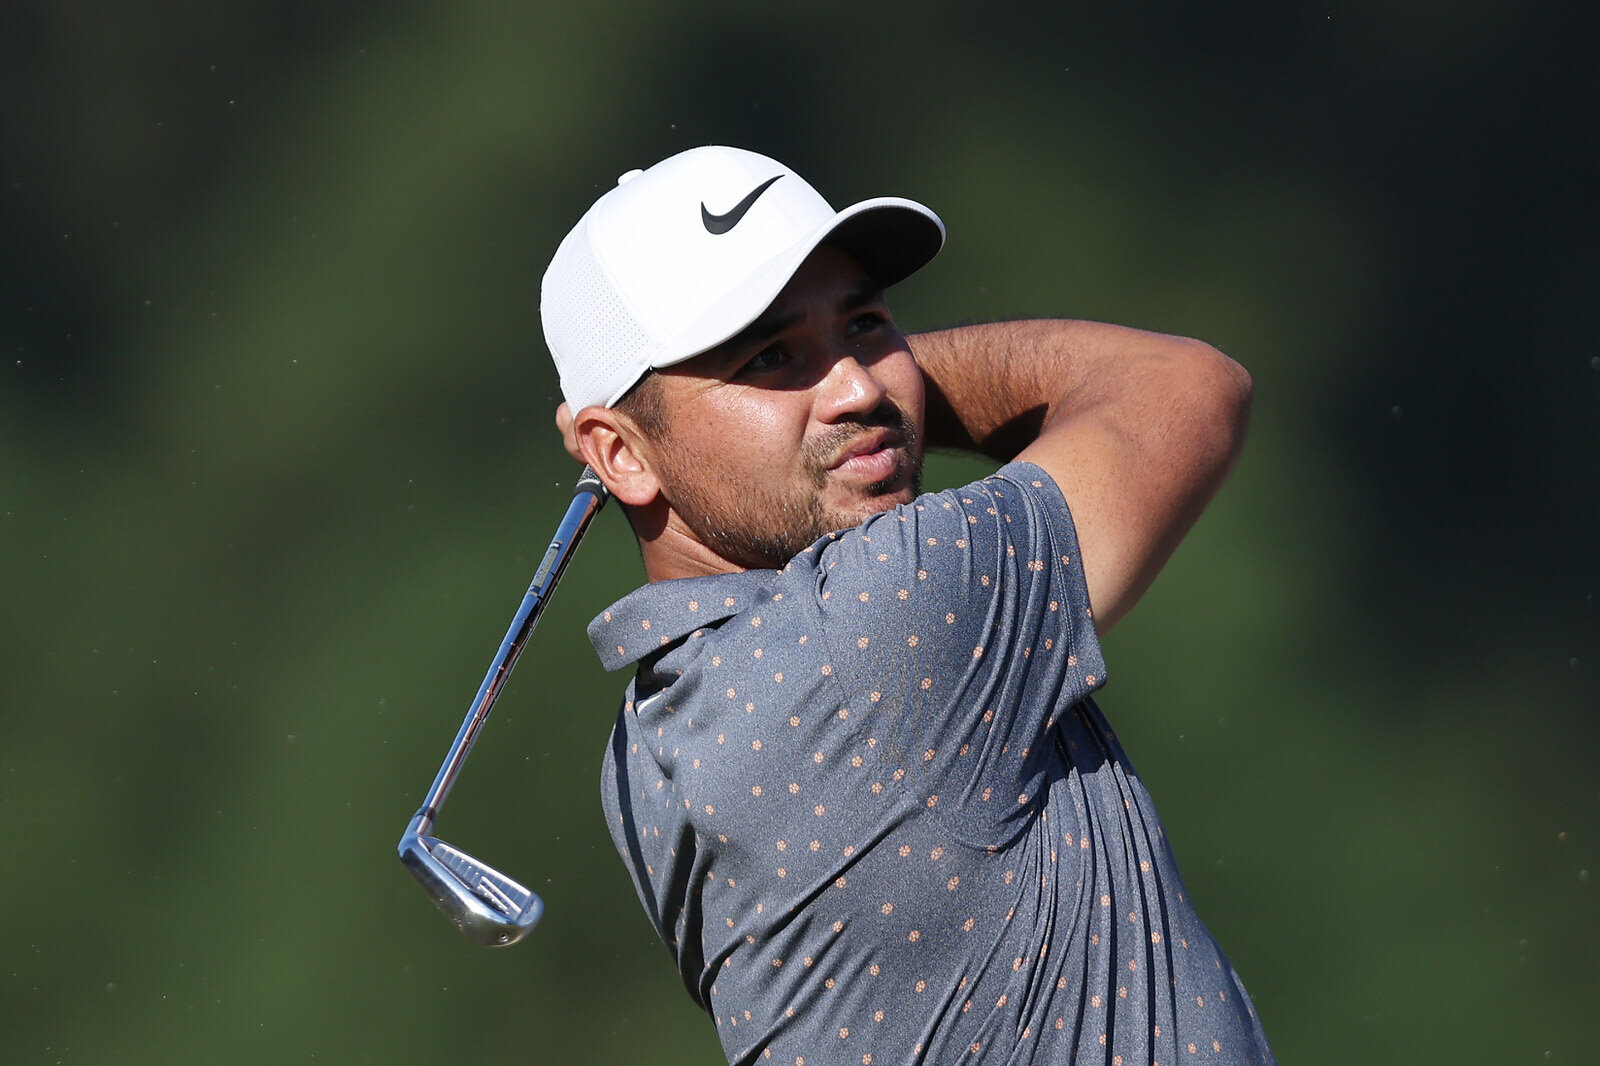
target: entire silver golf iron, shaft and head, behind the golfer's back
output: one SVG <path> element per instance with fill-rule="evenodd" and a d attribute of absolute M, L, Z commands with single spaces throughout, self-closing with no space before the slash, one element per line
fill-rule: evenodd
<path fill-rule="evenodd" d="M 555 589 L 555 583 L 562 579 L 566 560 L 571 559 L 590 519 L 605 506 L 608 496 L 605 485 L 586 466 L 573 487 L 573 503 L 566 507 L 566 515 L 557 527 L 555 538 L 544 552 L 539 570 L 533 575 L 533 584 L 528 586 L 528 594 L 523 595 L 522 607 L 517 608 L 510 629 L 506 631 L 506 639 L 501 640 L 499 651 L 490 663 L 488 674 L 483 675 L 483 685 L 478 687 L 478 695 L 472 699 L 461 731 L 456 733 L 456 743 L 450 746 L 445 765 L 438 768 L 438 776 L 434 778 L 434 787 L 427 791 L 422 808 L 406 826 L 405 836 L 400 837 L 400 861 L 405 863 L 405 868 L 469 940 L 488 948 L 514 944 L 522 940 L 539 920 L 544 903 L 531 888 L 427 834 L 434 829 L 438 808 L 450 795 L 450 786 L 454 784 L 461 763 L 467 760 L 467 752 L 472 751 L 478 730 L 488 720 L 494 699 L 499 698 L 506 679 L 510 677 L 517 656 L 522 655 L 533 627 L 539 624 L 546 599 Z"/>

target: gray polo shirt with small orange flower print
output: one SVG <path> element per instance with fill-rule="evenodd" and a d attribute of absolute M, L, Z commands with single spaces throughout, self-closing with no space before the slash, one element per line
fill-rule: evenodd
<path fill-rule="evenodd" d="M 1272 1063 L 1144 784 L 1042 469 L 662 581 L 603 768 L 638 898 L 731 1063 Z"/>

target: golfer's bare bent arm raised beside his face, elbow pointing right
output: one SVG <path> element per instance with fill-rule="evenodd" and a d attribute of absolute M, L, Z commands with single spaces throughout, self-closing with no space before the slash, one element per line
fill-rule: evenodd
<path fill-rule="evenodd" d="M 930 447 L 1026 459 L 1056 479 L 1104 634 L 1238 458 L 1250 375 L 1200 341 L 1096 322 L 998 322 L 910 343 Z"/>

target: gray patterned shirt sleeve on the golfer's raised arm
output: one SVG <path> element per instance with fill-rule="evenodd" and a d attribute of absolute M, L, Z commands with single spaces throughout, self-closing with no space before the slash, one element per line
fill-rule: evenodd
<path fill-rule="evenodd" d="M 1106 677 L 1054 480 L 1013 463 L 874 517 L 829 546 L 818 603 L 890 776 L 973 845 L 1014 837 L 1058 717 Z"/>

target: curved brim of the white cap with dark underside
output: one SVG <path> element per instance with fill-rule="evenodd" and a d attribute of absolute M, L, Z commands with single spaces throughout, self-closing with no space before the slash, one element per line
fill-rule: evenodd
<path fill-rule="evenodd" d="M 717 347 L 755 322 L 821 245 L 848 251 L 880 287 L 888 288 L 925 267 L 944 246 L 939 216 L 901 197 L 853 203 L 752 271 L 693 323 L 650 354 L 659 370 Z M 619 397 L 613 397 L 614 403 Z"/>

